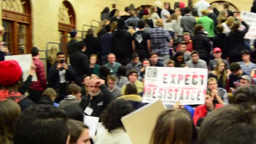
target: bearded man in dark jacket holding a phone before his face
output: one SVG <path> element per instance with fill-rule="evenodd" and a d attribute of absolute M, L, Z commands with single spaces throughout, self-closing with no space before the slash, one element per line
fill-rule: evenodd
<path fill-rule="evenodd" d="M 65 63 L 65 53 L 58 52 L 55 66 L 49 70 L 48 87 L 54 89 L 59 97 L 55 99 L 56 103 L 59 103 L 67 95 L 67 87 L 76 80 L 76 73 L 71 66 Z"/>

